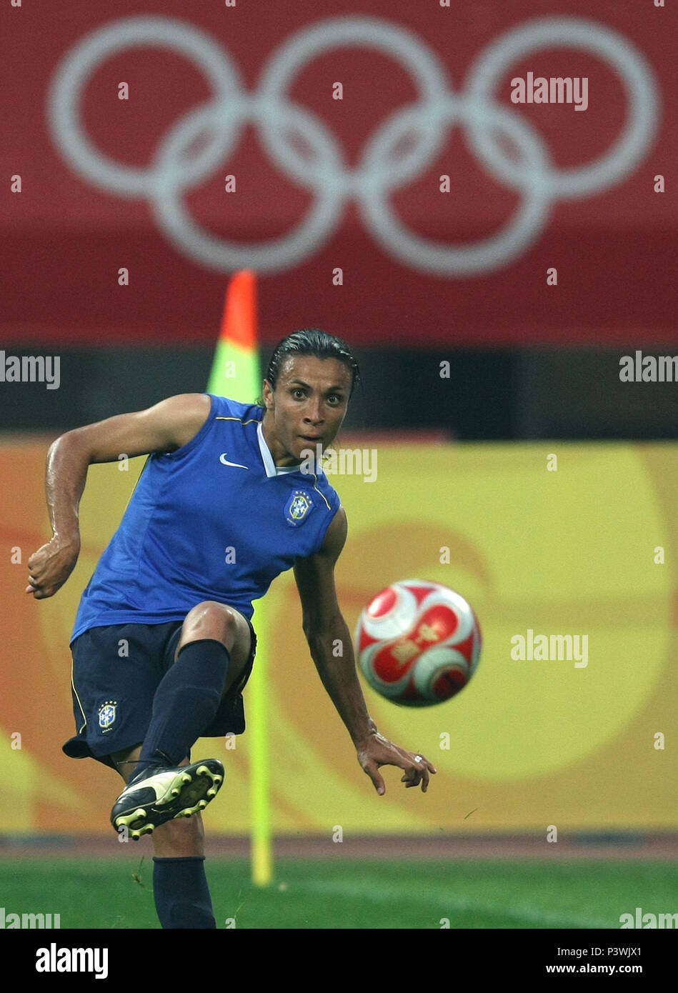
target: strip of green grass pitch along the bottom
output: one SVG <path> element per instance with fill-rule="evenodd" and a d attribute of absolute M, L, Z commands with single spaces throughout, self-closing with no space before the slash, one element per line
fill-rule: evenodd
<path fill-rule="evenodd" d="M 205 865 L 217 927 L 618 928 L 636 907 L 678 908 L 673 863 L 280 860 L 267 888 L 252 885 L 246 860 Z M 149 855 L 7 860 L 0 905 L 61 914 L 62 928 L 156 928 L 152 877 Z"/>

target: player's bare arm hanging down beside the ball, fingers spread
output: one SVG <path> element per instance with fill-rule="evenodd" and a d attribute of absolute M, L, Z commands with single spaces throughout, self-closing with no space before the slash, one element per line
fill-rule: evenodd
<path fill-rule="evenodd" d="M 357 760 L 381 795 L 386 786 L 380 766 L 397 766 L 403 770 L 406 786 L 421 783 L 426 792 L 429 774 L 435 773 L 425 756 L 415 756 L 379 734 L 367 712 L 355 670 L 352 639 L 341 616 L 335 586 L 335 564 L 346 540 L 347 522 L 339 507 L 327 530 L 323 547 L 316 555 L 297 559 L 295 579 L 302 603 L 304 634 L 323 685 L 350 735 Z M 333 647 L 340 643 L 341 654 Z"/>

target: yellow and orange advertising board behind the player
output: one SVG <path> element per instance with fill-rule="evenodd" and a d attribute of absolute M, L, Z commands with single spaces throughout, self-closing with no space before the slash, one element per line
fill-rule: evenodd
<path fill-rule="evenodd" d="M 24 588 L 50 535 L 47 446 L 0 447 L 0 831 L 107 832 L 121 780 L 61 751 L 74 733 L 68 639 L 144 460 L 90 467 L 77 567 L 37 602 Z M 426 794 L 385 769 L 377 796 L 315 671 L 294 576 L 280 576 L 266 596 L 275 833 L 675 830 L 678 446 L 360 447 L 369 474 L 353 463 L 330 476 L 348 517 L 336 575 L 350 631 L 383 587 L 432 580 L 473 604 L 482 653 L 469 686 L 434 707 L 398 707 L 362 681 L 381 733 L 438 768 Z M 226 769 L 205 822 L 245 834 L 247 733 L 225 745 L 193 752 Z"/>

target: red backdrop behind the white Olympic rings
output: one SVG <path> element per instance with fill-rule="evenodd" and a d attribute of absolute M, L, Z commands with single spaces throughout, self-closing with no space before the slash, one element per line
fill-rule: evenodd
<path fill-rule="evenodd" d="M 628 175 L 584 198 L 547 198 L 542 229 L 512 258 L 473 274 L 424 271 L 395 257 L 349 200 L 313 250 L 279 271 L 262 273 L 262 335 L 274 342 L 295 328 L 318 326 L 374 346 L 640 347 L 674 341 L 676 14 L 675 5 L 668 6 L 655 8 L 652 0 L 601 0 L 593 9 L 589 0 L 453 0 L 450 9 L 438 0 L 325 5 L 237 0 L 235 7 L 216 0 L 108 0 L 105 5 L 47 0 L 12 8 L 5 2 L 3 62 L 11 81 L 2 87 L 6 137 L 0 148 L 3 348 L 214 339 L 228 267 L 207 267 L 172 243 L 147 199 L 120 197 L 80 175 L 57 148 L 48 124 L 50 86 L 71 47 L 91 32 L 141 14 L 200 28 L 229 54 L 250 92 L 290 36 L 344 15 L 407 29 L 426 48 L 426 64 L 437 64 L 457 91 L 481 50 L 532 18 L 591 18 L 619 33 L 646 60 L 660 105 L 656 134 Z M 587 76 L 588 109 L 513 105 L 510 79 L 527 71 Z M 123 80 L 129 85 L 127 100 L 118 98 Z M 341 100 L 333 99 L 337 81 Z M 128 48 L 100 60 L 91 72 L 83 88 L 83 127 L 104 155 L 145 167 L 182 116 L 211 93 L 202 72 L 183 56 L 148 46 Z M 417 87 L 403 64 L 384 51 L 343 44 L 300 67 L 289 94 L 294 105 L 325 125 L 350 168 L 379 125 L 417 97 Z M 603 155 L 628 113 L 624 86 L 608 63 L 582 48 L 557 44 L 507 68 L 496 101 L 511 119 L 520 119 L 514 127 L 522 121 L 524 131 L 531 124 L 560 168 Z M 520 150 L 518 157 L 523 154 Z M 226 174 L 236 178 L 235 193 L 224 191 Z M 447 194 L 439 190 L 443 174 L 451 177 Z M 654 192 L 656 174 L 666 176 L 666 193 Z M 21 193 L 10 191 L 9 177 L 15 175 L 21 176 Z M 251 123 L 242 140 L 179 199 L 196 223 L 238 242 L 283 236 L 317 202 L 271 159 Z M 395 215 L 422 237 L 469 247 L 504 227 L 523 197 L 486 171 L 458 126 L 436 158 L 387 199 Z M 557 286 L 547 286 L 551 266 L 558 270 Z M 118 285 L 122 267 L 129 270 L 124 287 Z M 333 285 L 336 267 L 343 271 L 343 285 Z"/>

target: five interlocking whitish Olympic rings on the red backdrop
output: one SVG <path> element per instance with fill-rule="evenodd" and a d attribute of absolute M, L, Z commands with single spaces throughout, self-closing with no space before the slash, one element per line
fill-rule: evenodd
<path fill-rule="evenodd" d="M 160 142 L 148 169 L 104 156 L 83 132 L 80 104 L 84 86 L 106 59 L 130 48 L 152 46 L 185 56 L 203 71 L 213 99 L 190 110 Z M 288 99 L 294 76 L 317 56 L 341 46 L 370 47 L 398 61 L 418 90 L 416 103 L 390 115 L 370 137 L 354 169 L 317 115 Z M 579 48 L 608 63 L 621 78 L 627 116 L 610 149 L 571 169 L 556 169 L 531 124 L 493 100 L 504 73 L 534 51 Z M 477 56 L 465 91 L 453 91 L 445 68 L 412 32 L 370 17 L 337 17 L 305 28 L 286 41 L 261 73 L 256 92 L 247 92 L 230 57 L 202 30 L 166 17 L 130 17 L 87 35 L 65 57 L 53 78 L 48 117 L 53 139 L 70 166 L 94 186 L 119 197 L 145 198 L 178 251 L 218 272 L 251 268 L 280 272 L 306 259 L 333 234 L 348 199 L 393 257 L 422 272 L 471 276 L 506 265 L 542 232 L 551 206 L 610 189 L 631 173 L 651 147 L 659 120 L 658 85 L 646 59 L 620 34 L 594 21 L 554 17 L 528 21 L 500 35 Z M 271 159 L 292 181 L 315 194 L 301 223 L 272 241 L 229 242 L 200 227 L 182 194 L 202 183 L 254 121 Z M 389 194 L 411 182 L 435 160 L 448 127 L 465 125 L 470 146 L 487 173 L 517 191 L 522 202 L 505 227 L 463 246 L 427 240 L 407 228 L 391 210 Z M 203 148 L 187 152 L 199 135 Z M 394 150 L 415 133 L 414 147 L 400 158 Z M 301 134 L 312 156 L 289 141 Z M 506 154 L 507 144 L 517 155 Z"/>

